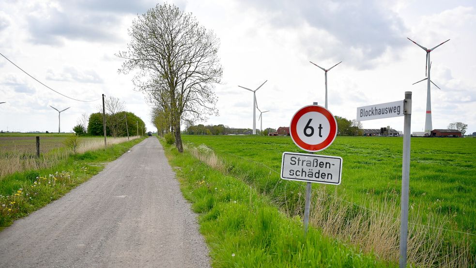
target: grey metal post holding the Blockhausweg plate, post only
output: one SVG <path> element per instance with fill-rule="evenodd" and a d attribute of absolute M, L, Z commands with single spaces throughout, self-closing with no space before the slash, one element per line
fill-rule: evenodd
<path fill-rule="evenodd" d="M 408 238 L 408 191 L 410 186 L 410 126 L 412 122 L 412 92 L 405 92 L 403 102 L 403 159 L 401 167 L 401 221 L 400 221 L 400 268 L 407 266 Z"/>

